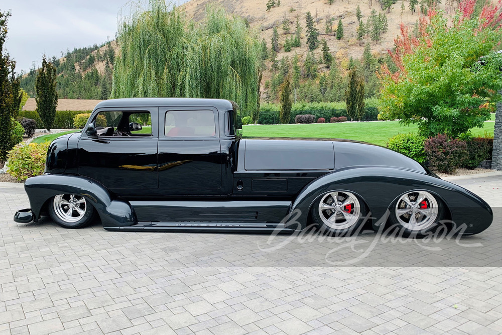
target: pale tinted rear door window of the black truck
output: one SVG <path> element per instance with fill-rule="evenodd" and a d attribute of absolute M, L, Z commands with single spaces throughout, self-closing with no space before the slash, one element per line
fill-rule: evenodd
<path fill-rule="evenodd" d="M 212 110 L 170 110 L 166 113 L 167 137 L 208 137 L 216 135 Z"/>

